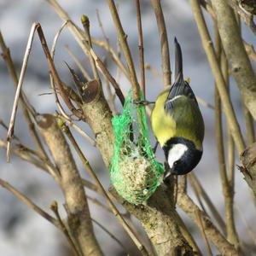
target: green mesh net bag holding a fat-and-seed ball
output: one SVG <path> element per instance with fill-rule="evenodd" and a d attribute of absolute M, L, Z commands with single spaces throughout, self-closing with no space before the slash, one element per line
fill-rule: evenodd
<path fill-rule="evenodd" d="M 142 204 L 160 185 L 164 168 L 155 160 L 148 141 L 145 108 L 133 103 L 131 92 L 125 99 L 123 113 L 113 117 L 112 123 L 111 182 L 126 201 L 134 205 Z"/>

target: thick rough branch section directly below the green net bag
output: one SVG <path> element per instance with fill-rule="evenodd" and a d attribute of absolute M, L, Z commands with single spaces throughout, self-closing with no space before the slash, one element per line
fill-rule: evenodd
<path fill-rule="evenodd" d="M 192 248 L 189 247 L 179 230 L 177 212 L 171 206 L 170 199 L 162 187 L 156 190 L 147 204 L 139 206 L 124 201 L 113 187 L 110 188 L 110 192 L 143 225 L 157 255 L 189 255 L 192 253 Z"/>

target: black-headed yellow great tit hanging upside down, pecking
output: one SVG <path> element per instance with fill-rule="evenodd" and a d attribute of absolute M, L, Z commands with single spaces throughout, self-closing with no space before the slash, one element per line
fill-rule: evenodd
<path fill-rule="evenodd" d="M 191 172 L 201 160 L 204 121 L 189 82 L 183 79 L 183 58 L 175 44 L 175 82 L 157 97 L 151 113 L 152 130 L 164 150 L 171 174 Z"/>

